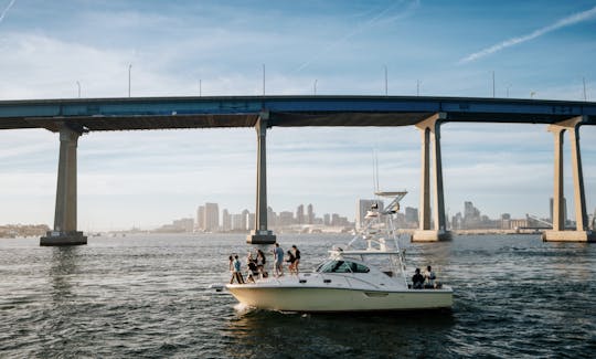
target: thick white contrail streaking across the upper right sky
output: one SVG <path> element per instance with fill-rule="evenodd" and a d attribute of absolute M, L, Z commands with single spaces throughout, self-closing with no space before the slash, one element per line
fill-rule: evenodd
<path fill-rule="evenodd" d="M 501 50 L 503 50 L 505 47 L 518 45 L 520 43 L 524 43 L 524 42 L 530 41 L 530 40 L 534 40 L 534 39 L 536 39 L 539 36 L 544 35 L 545 33 L 551 32 L 551 31 L 555 31 L 555 30 L 558 30 L 561 28 L 566 28 L 566 27 L 576 24 L 578 22 L 583 22 L 583 21 L 593 19 L 595 15 L 596 15 L 596 7 L 589 9 L 589 10 L 582 11 L 582 12 L 578 12 L 576 14 L 563 18 L 563 19 L 556 21 L 553 24 L 550 24 L 550 25 L 544 27 L 542 29 L 534 30 L 533 32 L 531 32 L 531 33 L 529 33 L 526 35 L 519 36 L 519 38 L 512 38 L 512 39 L 505 40 L 505 41 L 503 41 L 501 43 L 498 43 L 496 45 L 492 45 L 490 47 L 487 47 L 485 50 L 481 50 L 479 52 L 475 52 L 475 53 L 459 60 L 458 63 L 464 64 L 464 63 L 472 62 L 472 61 L 478 60 L 480 57 L 485 57 L 485 56 L 488 56 L 488 55 L 490 55 L 492 53 L 501 51 Z"/>

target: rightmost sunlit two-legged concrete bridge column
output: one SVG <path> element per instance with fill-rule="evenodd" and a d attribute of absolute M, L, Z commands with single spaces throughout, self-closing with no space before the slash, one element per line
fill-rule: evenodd
<path fill-rule="evenodd" d="M 545 231 L 542 240 L 546 242 L 596 242 L 596 232 L 588 229 L 582 155 L 579 151 L 579 126 L 584 116 L 550 125 L 549 131 L 554 135 L 554 194 L 553 194 L 553 230 Z M 563 139 L 570 134 L 573 171 L 573 202 L 575 205 L 575 231 L 565 231 L 563 208 Z"/>

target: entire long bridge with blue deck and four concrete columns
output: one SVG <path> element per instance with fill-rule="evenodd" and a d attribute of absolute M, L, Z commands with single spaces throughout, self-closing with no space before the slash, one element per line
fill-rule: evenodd
<path fill-rule="evenodd" d="M 85 244 L 76 223 L 76 148 L 88 131 L 254 127 L 257 133 L 255 231 L 248 243 L 275 243 L 267 226 L 267 128 L 309 126 L 416 126 L 421 130 L 419 229 L 413 241 L 449 240 L 446 229 L 440 125 L 543 124 L 554 135 L 553 229 L 545 241 L 596 242 L 587 223 L 579 128 L 596 125 L 596 103 L 409 96 L 217 96 L 76 98 L 0 102 L 0 129 L 45 128 L 60 134 L 54 228 L 41 245 Z M 566 231 L 563 139 L 568 133 L 577 228 Z M 430 205 L 430 194 L 434 203 Z M 433 221 L 432 221 L 433 219 Z"/>

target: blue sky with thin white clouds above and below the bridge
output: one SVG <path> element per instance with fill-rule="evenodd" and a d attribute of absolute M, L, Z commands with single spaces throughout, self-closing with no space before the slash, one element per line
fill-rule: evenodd
<path fill-rule="evenodd" d="M 596 1 L 0 0 L 0 101 L 131 96 L 494 96 L 596 101 Z M 584 91 L 585 83 L 585 91 Z M 581 129 L 588 212 L 596 129 Z M 0 130 L 0 224 L 53 224 L 58 137 Z M 547 218 L 545 125 L 441 126 L 448 215 Z M 565 193 L 573 212 L 565 144 Z M 273 128 L 268 204 L 354 218 L 374 190 L 419 207 L 414 127 Z M 252 128 L 91 133 L 78 141 L 78 226 L 155 228 L 196 207 L 254 211 Z"/>

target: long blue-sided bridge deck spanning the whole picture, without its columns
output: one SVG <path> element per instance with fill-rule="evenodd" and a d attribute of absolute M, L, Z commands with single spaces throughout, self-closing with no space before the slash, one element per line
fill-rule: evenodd
<path fill-rule="evenodd" d="M 273 126 L 412 126 L 436 113 L 444 122 L 555 124 L 586 116 L 596 103 L 470 97 L 234 96 L 28 99 L 0 102 L 0 129 L 83 130 L 254 127 L 268 112 Z"/>

